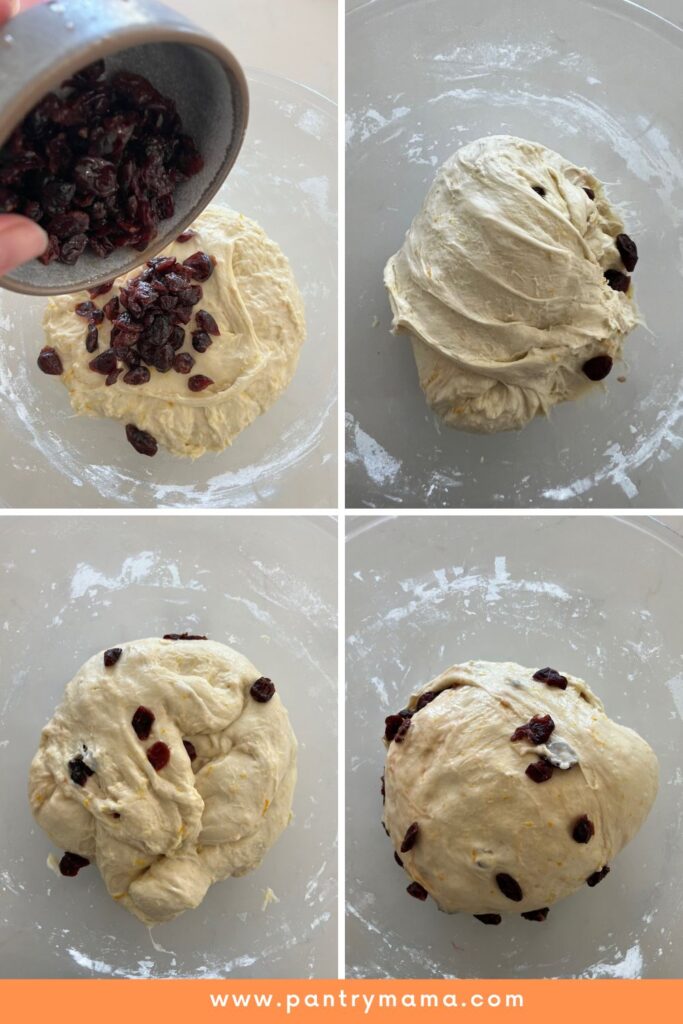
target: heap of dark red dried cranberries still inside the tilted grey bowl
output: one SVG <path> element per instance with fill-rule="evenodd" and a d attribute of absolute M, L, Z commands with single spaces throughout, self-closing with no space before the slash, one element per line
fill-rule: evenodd
<path fill-rule="evenodd" d="M 44 264 L 74 264 L 86 246 L 97 257 L 144 249 L 173 215 L 176 185 L 204 164 L 172 99 L 140 75 L 104 71 L 97 60 L 73 75 L 0 148 L 0 211 L 48 230 Z"/>

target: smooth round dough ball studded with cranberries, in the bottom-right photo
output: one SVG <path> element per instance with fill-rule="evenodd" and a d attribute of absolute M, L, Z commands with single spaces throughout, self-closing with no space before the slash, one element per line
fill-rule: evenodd
<path fill-rule="evenodd" d="M 402 738 L 385 737 L 385 827 L 418 884 L 412 894 L 426 890 L 449 913 L 545 910 L 595 884 L 654 802 L 657 761 L 645 740 L 612 722 L 581 679 L 555 674 L 566 680 L 560 689 L 536 672 L 511 662 L 455 665 L 411 697 Z M 511 739 L 547 715 L 546 742 Z M 387 719 L 387 736 L 394 726 Z M 526 774 L 539 762 L 551 775 L 541 782 Z M 414 823 L 417 839 L 400 852 Z"/>

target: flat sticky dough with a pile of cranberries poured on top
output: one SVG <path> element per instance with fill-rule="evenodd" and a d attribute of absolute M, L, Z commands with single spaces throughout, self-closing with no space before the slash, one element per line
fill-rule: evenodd
<path fill-rule="evenodd" d="M 305 321 L 290 264 L 258 224 L 233 210 L 211 206 L 193 229 L 194 238 L 174 242 L 164 254 L 182 262 L 202 251 L 216 259 L 211 276 L 201 282 L 204 294 L 194 313 L 210 312 L 220 335 L 206 352 L 196 352 L 190 343 L 193 317 L 180 349 L 195 357 L 193 374 L 214 381 L 205 391 L 189 391 L 184 374 L 162 374 L 154 368 L 146 384 L 126 384 L 121 375 L 108 386 L 104 377 L 88 367 L 93 355 L 84 343 L 87 322 L 74 311 L 89 299 L 86 292 L 50 299 L 43 326 L 47 344 L 61 358 L 61 380 L 77 413 L 132 423 L 174 455 L 196 458 L 230 444 L 284 391 L 296 370 Z M 118 279 L 96 304 L 101 308 L 139 270 Z M 109 347 L 111 327 L 105 319 L 99 328 L 98 352 Z"/>

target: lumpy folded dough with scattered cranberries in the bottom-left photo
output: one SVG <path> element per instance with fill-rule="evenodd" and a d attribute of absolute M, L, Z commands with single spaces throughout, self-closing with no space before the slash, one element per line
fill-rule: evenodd
<path fill-rule="evenodd" d="M 153 637 L 120 648 L 67 686 L 29 794 L 52 842 L 96 862 L 110 895 L 156 925 L 258 866 L 290 820 L 297 744 L 278 693 L 255 699 L 259 673 L 230 647 Z M 155 716 L 146 738 L 132 725 L 140 707 Z M 170 750 L 159 770 L 157 742 Z"/>

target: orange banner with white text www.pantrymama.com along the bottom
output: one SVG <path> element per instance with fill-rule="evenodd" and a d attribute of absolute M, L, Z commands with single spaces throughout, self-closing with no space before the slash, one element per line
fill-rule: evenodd
<path fill-rule="evenodd" d="M 503 1021 L 646 1024 L 683 1004 L 683 981 L 0 981 L 4 1020 Z"/>

